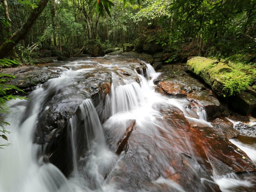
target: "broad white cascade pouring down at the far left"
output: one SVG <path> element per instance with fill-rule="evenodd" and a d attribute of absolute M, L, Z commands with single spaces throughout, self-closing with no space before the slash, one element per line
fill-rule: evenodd
<path fill-rule="evenodd" d="M 68 180 L 54 165 L 37 158 L 40 146 L 32 143 L 37 114 L 41 110 L 45 94 L 42 87 L 30 95 L 30 100 L 11 101 L 12 113 L 6 120 L 6 129 L 11 146 L 0 150 L 0 191 L 1 192 L 56 192 L 65 185 L 63 191 L 71 191 Z M 35 101 L 36 100 L 36 101 Z M 27 114 L 29 106 L 31 113 Z M 23 121 L 26 119 L 25 121 Z M 0 140 L 1 144 L 3 140 Z"/>

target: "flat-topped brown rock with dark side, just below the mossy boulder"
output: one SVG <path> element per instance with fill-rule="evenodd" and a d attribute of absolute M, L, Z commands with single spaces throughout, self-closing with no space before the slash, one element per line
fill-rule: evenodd
<path fill-rule="evenodd" d="M 220 101 L 209 95 L 208 91 L 196 91 L 187 94 L 187 100 L 194 101 L 204 108 L 208 117 L 219 116 Z"/>

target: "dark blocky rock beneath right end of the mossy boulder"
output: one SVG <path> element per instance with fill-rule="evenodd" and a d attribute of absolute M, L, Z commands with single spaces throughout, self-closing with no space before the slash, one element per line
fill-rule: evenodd
<path fill-rule="evenodd" d="M 248 115 L 256 108 L 256 97 L 248 92 L 240 92 L 228 100 L 232 110 Z"/>

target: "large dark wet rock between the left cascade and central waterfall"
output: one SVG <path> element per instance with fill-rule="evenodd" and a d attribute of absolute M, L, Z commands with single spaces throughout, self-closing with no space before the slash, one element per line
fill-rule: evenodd
<path fill-rule="evenodd" d="M 49 154 L 50 162 L 65 175 L 70 173 L 73 166 L 69 144 L 71 138 L 68 133 L 69 119 L 73 116 L 81 116 L 79 106 L 88 98 L 91 98 L 99 118 L 102 121 L 108 118 L 110 111 L 106 108 L 105 98 L 110 92 L 111 79 L 110 72 L 94 71 L 90 74 L 82 73 L 56 88 L 53 88 L 50 82 L 43 85 L 48 95 L 42 101 L 43 108 L 38 116 L 34 142 L 45 146 L 45 153 Z M 78 155 L 82 154 L 86 145 L 83 124 L 82 119 L 78 118 L 77 126 L 80 128 L 77 130 L 77 145 L 82 146 L 78 150 Z"/>

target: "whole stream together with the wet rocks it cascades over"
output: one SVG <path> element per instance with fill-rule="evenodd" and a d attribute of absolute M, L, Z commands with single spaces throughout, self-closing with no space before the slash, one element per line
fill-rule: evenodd
<path fill-rule="evenodd" d="M 226 139 L 202 107 L 158 91 L 150 64 L 109 56 L 40 69 L 58 77 L 8 103 L 0 192 L 256 189 L 255 142 Z"/>

